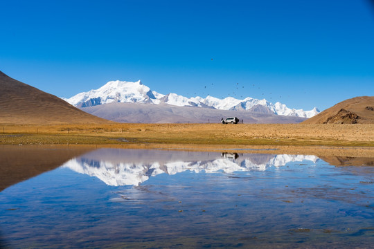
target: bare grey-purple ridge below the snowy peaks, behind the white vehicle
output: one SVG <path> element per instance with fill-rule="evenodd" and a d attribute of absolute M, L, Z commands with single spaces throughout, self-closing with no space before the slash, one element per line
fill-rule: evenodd
<path fill-rule="evenodd" d="M 306 120 L 274 113 L 176 107 L 165 103 L 109 103 L 84 107 L 82 110 L 107 120 L 130 123 L 220 123 L 221 118 L 231 116 L 240 118 L 244 124 L 292 124 Z"/>

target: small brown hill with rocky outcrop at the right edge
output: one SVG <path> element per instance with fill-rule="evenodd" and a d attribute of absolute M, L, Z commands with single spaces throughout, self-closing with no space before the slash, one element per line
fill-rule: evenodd
<path fill-rule="evenodd" d="M 374 124 L 374 96 L 344 100 L 303 124 Z"/>

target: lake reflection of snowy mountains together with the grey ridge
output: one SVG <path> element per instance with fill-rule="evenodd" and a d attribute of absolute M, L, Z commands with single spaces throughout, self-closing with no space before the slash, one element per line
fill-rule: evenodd
<path fill-rule="evenodd" d="M 236 159 L 235 159 L 236 158 Z M 139 185 L 151 176 L 191 172 L 263 171 L 302 160 L 315 162 L 316 156 L 240 154 L 227 158 L 223 154 L 190 151 L 99 149 L 65 163 L 75 172 L 96 176 L 107 185 Z"/>

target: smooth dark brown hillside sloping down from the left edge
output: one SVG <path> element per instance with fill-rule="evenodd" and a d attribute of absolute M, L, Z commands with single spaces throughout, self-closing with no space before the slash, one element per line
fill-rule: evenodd
<path fill-rule="evenodd" d="M 0 71 L 0 123 L 2 124 L 84 124 L 107 123 L 55 95 L 14 80 Z"/>

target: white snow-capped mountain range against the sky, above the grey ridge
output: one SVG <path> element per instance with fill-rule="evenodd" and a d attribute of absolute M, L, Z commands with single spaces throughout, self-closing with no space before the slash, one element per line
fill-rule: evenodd
<path fill-rule="evenodd" d="M 94 107 L 99 104 L 109 103 L 147 103 L 147 104 L 170 104 L 177 107 L 204 107 L 220 110 L 233 111 L 254 111 L 260 113 L 274 113 L 276 115 L 294 116 L 302 118 L 311 118 L 319 113 L 314 107 L 310 111 L 303 109 L 290 109 L 281 102 L 275 104 L 267 100 L 257 100 L 254 98 L 245 98 L 238 100 L 232 97 L 224 99 L 207 96 L 206 98 L 193 97 L 186 98 L 182 95 L 169 93 L 163 95 L 152 91 L 145 86 L 140 80 L 137 82 L 110 81 L 99 89 L 91 90 L 84 93 L 78 93 L 71 98 L 62 98 L 75 107 Z"/>

